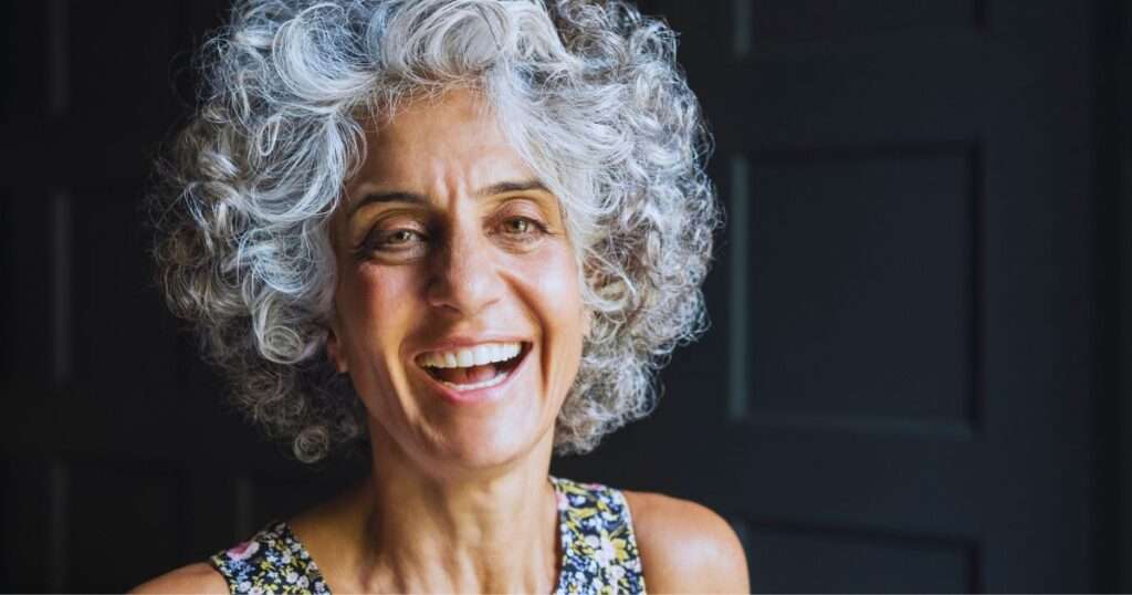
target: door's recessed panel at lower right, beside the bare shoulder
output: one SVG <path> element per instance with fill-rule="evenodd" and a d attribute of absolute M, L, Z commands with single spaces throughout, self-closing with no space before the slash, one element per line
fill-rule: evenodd
<path fill-rule="evenodd" d="M 744 532 L 753 593 L 969 593 L 970 543 L 748 526 Z"/>

